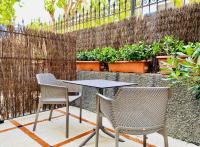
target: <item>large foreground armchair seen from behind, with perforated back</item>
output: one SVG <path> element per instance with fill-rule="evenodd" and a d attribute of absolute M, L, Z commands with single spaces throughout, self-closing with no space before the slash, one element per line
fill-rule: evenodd
<path fill-rule="evenodd" d="M 113 125 L 116 147 L 119 146 L 119 133 L 143 135 L 146 146 L 146 135 L 154 132 L 163 135 L 165 147 L 168 147 L 165 114 L 169 91 L 167 87 L 124 87 L 112 99 L 97 94 L 96 147 L 100 115 L 107 117 Z"/>

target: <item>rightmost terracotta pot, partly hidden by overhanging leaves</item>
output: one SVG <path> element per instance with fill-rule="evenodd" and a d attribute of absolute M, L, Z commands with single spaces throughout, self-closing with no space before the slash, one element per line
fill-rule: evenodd
<path fill-rule="evenodd" d="M 183 59 L 182 62 L 187 58 L 188 56 L 179 56 L 179 58 Z M 159 63 L 159 67 L 161 68 L 165 68 L 165 66 L 162 64 L 162 62 L 167 62 L 167 59 L 170 58 L 170 56 L 157 56 L 156 57 L 158 59 L 158 63 Z M 168 75 L 170 74 L 170 70 L 160 70 L 160 74 L 163 75 Z"/>

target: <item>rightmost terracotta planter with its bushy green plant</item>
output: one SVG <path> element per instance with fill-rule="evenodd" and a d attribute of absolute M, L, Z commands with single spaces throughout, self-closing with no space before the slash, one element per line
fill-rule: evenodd
<path fill-rule="evenodd" d="M 169 74 L 170 71 L 166 69 L 166 62 L 170 62 L 171 57 L 175 57 L 177 61 L 184 61 L 188 56 L 186 55 L 187 51 L 190 52 L 190 46 L 185 46 L 183 41 L 176 40 L 172 36 L 165 36 L 161 42 L 154 42 L 151 45 L 152 51 L 154 54 L 157 54 L 156 58 L 158 59 L 160 73 Z"/>

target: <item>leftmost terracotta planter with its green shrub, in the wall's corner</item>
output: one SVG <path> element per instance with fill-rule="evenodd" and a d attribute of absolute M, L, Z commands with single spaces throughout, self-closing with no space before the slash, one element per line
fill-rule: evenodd
<path fill-rule="evenodd" d="M 101 64 L 98 61 L 100 49 L 96 48 L 91 51 L 79 51 L 76 54 L 77 71 L 101 71 Z"/>

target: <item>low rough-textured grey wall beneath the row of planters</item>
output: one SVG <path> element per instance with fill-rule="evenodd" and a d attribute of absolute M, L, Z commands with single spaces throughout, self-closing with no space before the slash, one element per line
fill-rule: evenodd
<path fill-rule="evenodd" d="M 138 83 L 138 86 L 167 86 L 159 74 L 133 74 L 113 72 L 87 72 L 77 73 L 78 79 L 109 79 Z M 105 95 L 113 96 L 117 89 L 107 89 Z M 83 107 L 90 111 L 96 110 L 95 93 L 93 88 L 83 88 Z M 78 105 L 78 103 L 77 103 Z M 168 135 L 177 139 L 200 145 L 200 100 L 196 100 L 187 86 L 172 86 L 172 97 L 167 109 Z"/>

